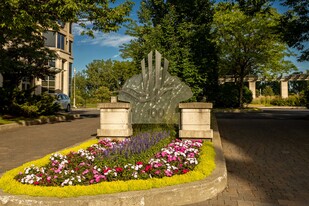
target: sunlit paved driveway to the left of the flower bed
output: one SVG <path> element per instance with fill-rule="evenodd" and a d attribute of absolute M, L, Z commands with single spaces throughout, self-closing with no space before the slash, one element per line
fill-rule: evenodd
<path fill-rule="evenodd" d="M 98 111 L 79 113 L 81 119 L 1 131 L 0 174 L 94 137 L 100 125 Z"/>

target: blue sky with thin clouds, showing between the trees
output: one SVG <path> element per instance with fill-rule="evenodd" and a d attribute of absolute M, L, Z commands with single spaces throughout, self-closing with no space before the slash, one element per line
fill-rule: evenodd
<path fill-rule="evenodd" d="M 138 11 L 140 0 L 134 0 L 135 5 L 131 12 L 131 18 L 137 19 L 136 12 Z M 274 4 L 278 8 L 279 12 L 284 11 L 284 8 L 279 6 L 278 3 Z M 80 36 L 81 28 L 77 25 L 73 27 L 74 34 L 74 45 L 73 45 L 73 55 L 74 63 L 73 67 L 77 71 L 86 69 L 86 65 L 91 63 L 93 60 L 119 60 L 123 59 L 120 57 L 120 46 L 123 43 L 128 43 L 132 37 L 125 35 L 125 28 L 120 29 L 118 32 L 104 34 L 101 32 L 96 32 L 96 38 L 92 39 L 87 36 Z M 291 58 L 296 67 L 300 71 L 309 70 L 309 62 L 297 62 L 296 58 Z"/>

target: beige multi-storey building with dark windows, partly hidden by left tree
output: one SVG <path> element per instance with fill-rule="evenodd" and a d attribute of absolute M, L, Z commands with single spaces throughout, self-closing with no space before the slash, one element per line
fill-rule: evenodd
<path fill-rule="evenodd" d="M 24 79 L 20 85 L 21 89 L 28 89 L 30 86 L 36 86 L 35 94 L 64 93 L 71 96 L 72 64 L 73 64 L 73 34 L 72 23 L 58 22 L 61 26 L 58 32 L 47 31 L 45 37 L 45 46 L 54 50 L 57 58 L 49 62 L 52 69 L 60 72 L 53 76 L 46 76 L 44 79 Z M 3 78 L 0 74 L 0 86 Z"/>

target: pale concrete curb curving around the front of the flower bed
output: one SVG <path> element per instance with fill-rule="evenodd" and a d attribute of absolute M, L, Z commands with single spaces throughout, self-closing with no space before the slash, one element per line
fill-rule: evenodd
<path fill-rule="evenodd" d="M 221 146 L 220 134 L 213 120 L 213 144 L 216 151 L 216 168 L 204 180 L 181 185 L 117 194 L 82 196 L 77 198 L 49 198 L 16 196 L 0 191 L 0 205 L 190 205 L 206 201 L 222 192 L 227 186 L 227 170 Z"/>

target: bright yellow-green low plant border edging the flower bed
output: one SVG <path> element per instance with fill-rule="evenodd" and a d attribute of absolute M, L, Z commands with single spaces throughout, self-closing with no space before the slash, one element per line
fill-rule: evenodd
<path fill-rule="evenodd" d="M 70 151 L 78 151 L 81 148 L 89 147 L 97 143 L 97 139 L 86 141 L 79 146 L 72 147 L 60 151 L 61 154 L 68 154 Z M 129 180 L 129 181 L 114 181 L 101 182 L 99 184 L 89 186 L 65 186 L 65 187 L 41 187 L 34 185 L 21 184 L 16 181 L 14 177 L 24 168 L 31 165 L 38 167 L 44 166 L 49 161 L 51 154 L 45 157 L 34 160 L 24 165 L 6 172 L 0 178 L 0 188 L 10 194 L 14 195 L 29 195 L 40 197 L 78 197 L 100 194 L 111 194 L 126 191 L 147 190 L 151 188 L 160 188 L 176 184 L 183 184 L 193 181 L 205 179 L 215 169 L 215 150 L 211 142 L 204 142 L 201 148 L 200 162 L 191 172 L 183 175 L 175 175 L 173 177 L 152 178 L 148 180 Z"/>

